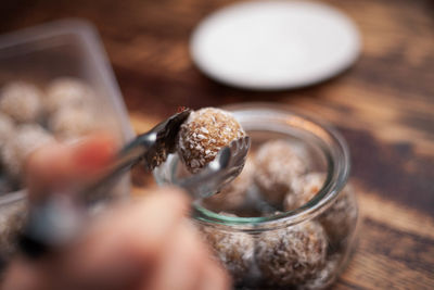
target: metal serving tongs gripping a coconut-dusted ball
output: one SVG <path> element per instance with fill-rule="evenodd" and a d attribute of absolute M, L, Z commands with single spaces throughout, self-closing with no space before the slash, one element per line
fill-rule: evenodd
<path fill-rule="evenodd" d="M 30 204 L 27 223 L 18 236 L 21 252 L 27 257 L 37 259 L 79 236 L 86 223 L 86 207 L 106 198 L 111 181 L 138 163 L 153 169 L 175 151 L 176 136 L 189 114 L 190 111 L 178 113 L 137 137 L 91 186 L 81 190 L 69 189 L 71 192 L 66 193 L 51 192 L 39 203 Z M 232 141 L 199 175 L 181 179 L 177 185 L 193 197 L 218 192 L 241 173 L 248 148 L 248 137 Z"/>

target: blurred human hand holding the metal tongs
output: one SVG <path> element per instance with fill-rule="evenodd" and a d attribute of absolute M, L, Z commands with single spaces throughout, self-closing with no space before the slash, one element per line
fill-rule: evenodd
<path fill-rule="evenodd" d="M 30 202 L 97 175 L 115 152 L 105 135 L 38 150 L 27 164 Z M 186 217 L 189 203 L 179 189 L 150 189 L 144 198 L 89 220 L 64 249 L 37 261 L 16 259 L 2 289 L 229 289 L 227 274 Z"/>

